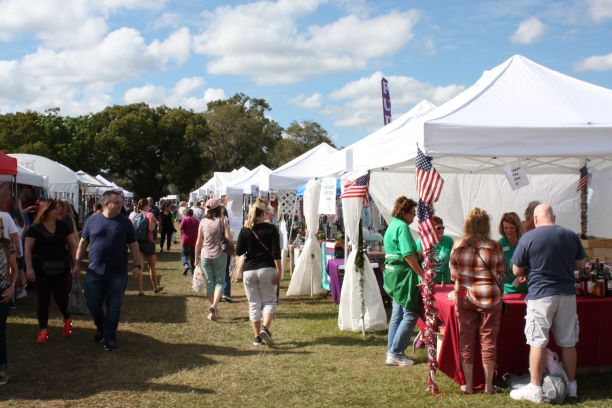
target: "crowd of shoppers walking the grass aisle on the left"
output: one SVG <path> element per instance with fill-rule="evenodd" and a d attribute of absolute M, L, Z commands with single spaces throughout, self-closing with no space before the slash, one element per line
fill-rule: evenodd
<path fill-rule="evenodd" d="M 232 302 L 229 264 L 232 255 L 244 256 L 244 285 L 249 302 L 253 344 L 272 345 L 270 326 L 281 277 L 279 236 L 270 223 L 272 209 L 257 199 L 249 211 L 236 248 L 227 212 L 221 200 L 179 204 L 154 204 L 141 199 L 135 208 L 123 204 L 121 195 L 106 191 L 99 208 L 92 211 L 79 232 L 76 212 L 63 199 L 42 199 L 35 206 L 21 207 L 13 199 L 9 212 L 0 212 L 0 385 L 8 381 L 6 321 L 11 305 L 27 296 L 26 286 L 35 287 L 39 331 L 36 341 L 49 341 L 51 296 L 63 317 L 63 336 L 71 337 L 69 293 L 74 278 L 81 277 L 81 260 L 87 255 L 84 279 L 87 308 L 96 327 L 94 340 L 104 350 L 117 348 L 117 328 L 123 296 L 128 284 L 128 250 L 139 295 L 144 295 L 143 267 L 146 260 L 153 292 L 163 291 L 156 271 L 159 253 L 170 251 L 178 222 L 181 232 L 183 275 L 196 267 L 206 276 L 210 301 L 208 318 L 216 321 L 221 300 Z"/>

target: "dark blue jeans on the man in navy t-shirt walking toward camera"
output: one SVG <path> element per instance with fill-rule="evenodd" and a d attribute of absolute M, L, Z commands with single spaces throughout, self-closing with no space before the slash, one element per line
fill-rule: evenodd
<path fill-rule="evenodd" d="M 127 287 L 127 273 L 106 273 L 85 275 L 85 299 L 98 333 L 105 341 L 117 341 L 117 326 L 121 302 Z M 103 305 L 106 304 L 106 313 Z"/>

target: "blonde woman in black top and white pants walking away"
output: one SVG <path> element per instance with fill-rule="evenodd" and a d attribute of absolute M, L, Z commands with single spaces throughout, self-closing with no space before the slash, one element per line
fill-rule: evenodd
<path fill-rule="evenodd" d="M 266 211 L 265 202 L 255 200 L 236 244 L 237 255 L 246 254 L 243 281 L 256 346 L 273 344 L 270 326 L 276 312 L 276 285 L 281 279 L 278 230 L 265 222 Z"/>

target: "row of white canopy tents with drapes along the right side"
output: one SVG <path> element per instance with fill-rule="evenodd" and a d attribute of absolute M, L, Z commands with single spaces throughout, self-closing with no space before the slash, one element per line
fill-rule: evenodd
<path fill-rule="evenodd" d="M 434 166 L 445 179 L 436 214 L 444 219 L 450 235 L 461 236 L 468 212 L 481 207 L 491 215 L 496 236 L 501 215 L 509 211 L 521 215 L 532 200 L 551 203 L 557 223 L 578 231 L 581 214 L 576 186 L 580 169 L 586 165 L 591 173 L 588 232 L 612 237 L 612 218 L 608 216 L 612 202 L 612 90 L 520 55 L 485 71 L 474 85 L 445 104 L 435 107 L 423 101 L 347 148 L 337 151 L 323 144 L 267 176 L 251 178 L 252 173 L 245 173 L 242 177 L 249 180 L 248 190 L 243 185 L 242 191 L 252 193 L 254 185 L 261 192 L 294 189 L 307 180 L 328 176 L 352 179 L 370 172 L 370 194 L 389 220 L 396 197 L 417 198 L 417 147 L 433 157 Z M 508 166 L 525 169 L 529 184 L 513 190 L 504 175 Z M 234 181 L 237 178 L 214 194 L 234 191 Z M 318 202 L 317 185 L 309 182 L 304 195 L 307 223 L 313 208 L 310 204 Z M 343 206 L 347 233 L 355 238 L 352 230 L 360 213 L 353 204 Z M 320 251 L 311 251 L 300 256 L 295 269 L 300 273 L 292 276 L 292 293 L 288 294 L 310 294 L 313 282 L 315 286 L 321 283 Z M 299 268 L 300 263 L 306 267 Z M 347 260 L 345 277 L 349 279 L 342 289 L 341 329 L 368 330 L 386 325 L 380 293 L 368 265 L 365 285 L 370 289 L 364 292 L 365 321 L 360 322 L 354 260 Z"/>

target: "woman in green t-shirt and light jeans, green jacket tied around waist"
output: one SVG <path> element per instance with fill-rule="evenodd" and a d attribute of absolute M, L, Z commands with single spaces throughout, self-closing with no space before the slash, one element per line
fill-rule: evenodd
<path fill-rule="evenodd" d="M 384 238 L 384 288 L 393 299 L 386 364 L 392 366 L 413 364 L 405 352 L 421 311 L 418 284 L 423 270 L 419 265 L 416 243 L 408 227 L 416 215 L 416 206 L 417 203 L 409 198 L 397 198 Z"/>

